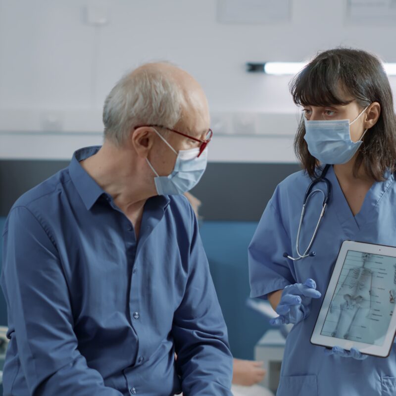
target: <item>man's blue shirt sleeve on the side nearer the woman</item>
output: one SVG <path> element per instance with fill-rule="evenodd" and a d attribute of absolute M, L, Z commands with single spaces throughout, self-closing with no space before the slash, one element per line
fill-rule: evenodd
<path fill-rule="evenodd" d="M 176 367 L 184 395 L 232 396 L 233 359 L 228 345 L 227 327 L 192 209 L 191 215 L 193 235 L 190 274 L 172 327 L 177 353 Z"/>

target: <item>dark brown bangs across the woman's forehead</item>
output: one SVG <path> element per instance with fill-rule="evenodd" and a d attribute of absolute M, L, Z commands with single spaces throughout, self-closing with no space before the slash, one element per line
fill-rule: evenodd
<path fill-rule="evenodd" d="M 313 60 L 291 81 L 290 92 L 297 105 L 346 105 L 353 100 L 345 99 L 342 88 L 348 84 L 341 75 L 340 64 L 329 60 Z"/>

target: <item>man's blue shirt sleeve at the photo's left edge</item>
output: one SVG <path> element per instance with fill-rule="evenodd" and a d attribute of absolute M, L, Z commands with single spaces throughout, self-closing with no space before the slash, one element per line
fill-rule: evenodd
<path fill-rule="evenodd" d="M 79 352 L 55 242 L 26 207 L 11 211 L 3 253 L 1 286 L 29 394 L 122 396 Z"/>

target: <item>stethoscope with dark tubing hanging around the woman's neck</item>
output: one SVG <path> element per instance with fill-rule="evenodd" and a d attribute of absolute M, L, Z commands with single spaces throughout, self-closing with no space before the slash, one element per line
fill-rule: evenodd
<path fill-rule="evenodd" d="M 298 224 L 298 231 L 297 231 L 297 240 L 296 240 L 296 251 L 297 251 L 297 255 L 298 257 L 292 257 L 291 255 L 289 255 L 288 253 L 283 253 L 284 257 L 290 258 L 293 261 L 298 261 L 301 260 L 301 258 L 305 258 L 305 257 L 313 257 L 315 256 L 315 252 L 311 251 L 309 253 L 309 250 L 311 250 L 311 247 L 313 245 L 313 242 L 315 241 L 316 238 L 316 234 L 318 232 L 319 229 L 319 225 L 320 222 L 322 221 L 323 215 L 325 214 L 326 211 L 326 207 L 327 204 L 329 202 L 330 196 L 331 196 L 331 183 L 329 181 L 329 179 L 326 178 L 326 174 L 327 171 L 329 170 L 330 165 L 326 165 L 321 173 L 321 175 L 316 178 L 307 188 L 305 196 L 304 196 L 304 201 L 302 203 L 302 210 L 301 210 L 301 217 L 300 217 L 300 223 Z M 327 185 L 327 193 L 325 194 L 322 190 L 316 189 L 313 190 L 313 188 L 318 184 L 324 182 Z M 313 190 L 313 191 L 312 191 Z M 304 220 L 304 214 L 305 214 L 305 209 L 306 209 L 306 205 L 309 202 L 309 199 L 311 199 L 315 194 L 317 193 L 322 193 L 323 194 L 323 208 L 322 211 L 320 213 L 319 216 L 319 220 L 318 223 L 316 224 L 316 228 L 315 231 L 313 232 L 312 238 L 311 238 L 311 242 L 309 242 L 308 247 L 306 248 L 306 250 L 301 254 L 300 253 L 300 249 L 299 249 L 299 242 L 300 242 L 300 234 L 301 234 L 301 228 L 302 228 L 302 221 Z"/>

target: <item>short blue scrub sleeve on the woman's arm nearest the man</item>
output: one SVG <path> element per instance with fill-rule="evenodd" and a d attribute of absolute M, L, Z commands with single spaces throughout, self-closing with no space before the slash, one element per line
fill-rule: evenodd
<path fill-rule="evenodd" d="M 248 247 L 250 297 L 267 298 L 269 293 L 295 283 L 289 260 L 283 256 L 292 253 L 291 241 L 274 198 L 268 202 Z"/>

